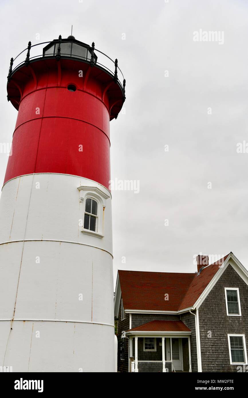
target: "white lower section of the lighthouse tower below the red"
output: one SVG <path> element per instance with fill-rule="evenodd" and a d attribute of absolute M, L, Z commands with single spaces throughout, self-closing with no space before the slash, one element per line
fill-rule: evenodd
<path fill-rule="evenodd" d="M 98 204 L 84 229 L 86 199 Z M 0 201 L 0 365 L 114 372 L 111 194 L 85 178 L 32 174 Z"/>

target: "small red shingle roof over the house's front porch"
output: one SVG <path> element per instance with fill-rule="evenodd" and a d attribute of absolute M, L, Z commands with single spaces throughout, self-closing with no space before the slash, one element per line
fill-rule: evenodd
<path fill-rule="evenodd" d="M 159 321 L 154 320 L 130 331 L 138 330 L 140 332 L 191 332 L 191 330 L 182 321 Z"/>

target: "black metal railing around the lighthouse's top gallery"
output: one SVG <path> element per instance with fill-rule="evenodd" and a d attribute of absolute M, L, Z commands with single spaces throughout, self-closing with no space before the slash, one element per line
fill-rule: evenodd
<path fill-rule="evenodd" d="M 71 46 L 71 52 L 66 54 L 66 53 L 62 53 L 61 52 L 61 47 L 64 43 L 72 43 Z M 47 44 L 46 47 L 49 47 L 48 45 L 51 44 L 51 47 L 49 47 L 46 52 L 42 51 L 42 54 L 35 54 L 32 57 L 30 57 L 30 51 L 31 53 L 33 53 L 33 51 L 38 48 L 37 46 L 41 46 Z M 83 47 L 84 49 L 86 49 L 86 56 L 79 56 L 78 54 L 73 54 L 73 44 Z M 46 48 L 45 47 L 45 48 Z M 49 49 L 53 49 L 53 52 L 51 53 L 47 53 L 47 51 Z M 39 47 L 40 49 L 40 47 Z M 26 57 L 21 57 L 21 55 L 27 51 L 27 55 Z M 40 51 L 37 51 L 37 53 L 39 53 Z M 99 54 L 96 56 L 96 52 Z M 31 60 L 35 60 L 35 59 L 43 59 L 44 57 L 49 57 L 49 58 L 55 58 L 57 61 L 59 61 L 61 58 L 75 58 L 78 60 L 81 60 L 83 62 L 87 62 L 88 64 L 90 64 L 90 66 L 93 68 L 94 66 L 100 66 L 101 68 L 107 70 L 109 72 L 109 74 L 113 77 L 114 82 L 117 84 L 119 84 L 123 90 L 123 94 L 124 94 L 124 101 L 125 101 L 125 85 L 126 85 L 126 80 L 123 76 L 123 73 L 121 72 L 121 69 L 118 66 L 118 60 L 115 59 L 115 61 L 113 61 L 110 57 L 108 57 L 108 55 L 104 54 L 102 51 L 97 50 L 95 48 L 95 43 L 92 43 L 92 46 L 86 45 L 84 43 L 81 43 L 77 40 L 69 40 L 69 39 L 62 39 L 61 35 L 59 35 L 59 39 L 57 40 L 53 40 L 53 41 L 44 41 L 43 43 L 38 43 L 38 44 L 34 44 L 31 45 L 31 41 L 29 41 L 27 48 L 25 48 L 23 51 L 21 51 L 20 54 L 17 55 L 16 58 L 11 58 L 10 60 L 10 68 L 9 68 L 9 73 L 8 73 L 8 82 L 10 81 L 11 76 L 13 75 L 13 73 L 21 66 L 21 65 L 25 65 L 28 66 L 29 63 L 31 62 Z M 100 62 L 100 60 L 103 62 Z M 102 60 L 103 59 L 103 60 Z M 110 61 L 110 65 L 108 64 L 108 66 L 106 65 L 105 60 L 109 60 Z M 17 62 L 20 61 L 18 64 Z M 111 66 L 113 64 L 113 66 Z M 121 80 L 118 77 L 118 71 L 121 73 L 122 77 L 123 77 L 123 82 L 121 82 Z"/>

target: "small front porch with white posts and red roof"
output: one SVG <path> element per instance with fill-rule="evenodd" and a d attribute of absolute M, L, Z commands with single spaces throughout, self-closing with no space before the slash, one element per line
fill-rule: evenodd
<path fill-rule="evenodd" d="M 190 335 L 182 321 L 154 320 L 129 330 L 129 371 L 191 372 Z"/>

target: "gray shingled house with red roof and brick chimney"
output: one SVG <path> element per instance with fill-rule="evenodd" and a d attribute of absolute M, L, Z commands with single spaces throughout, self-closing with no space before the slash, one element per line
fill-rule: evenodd
<path fill-rule="evenodd" d="M 248 272 L 228 254 L 196 273 L 118 271 L 119 372 L 248 369 Z"/>

